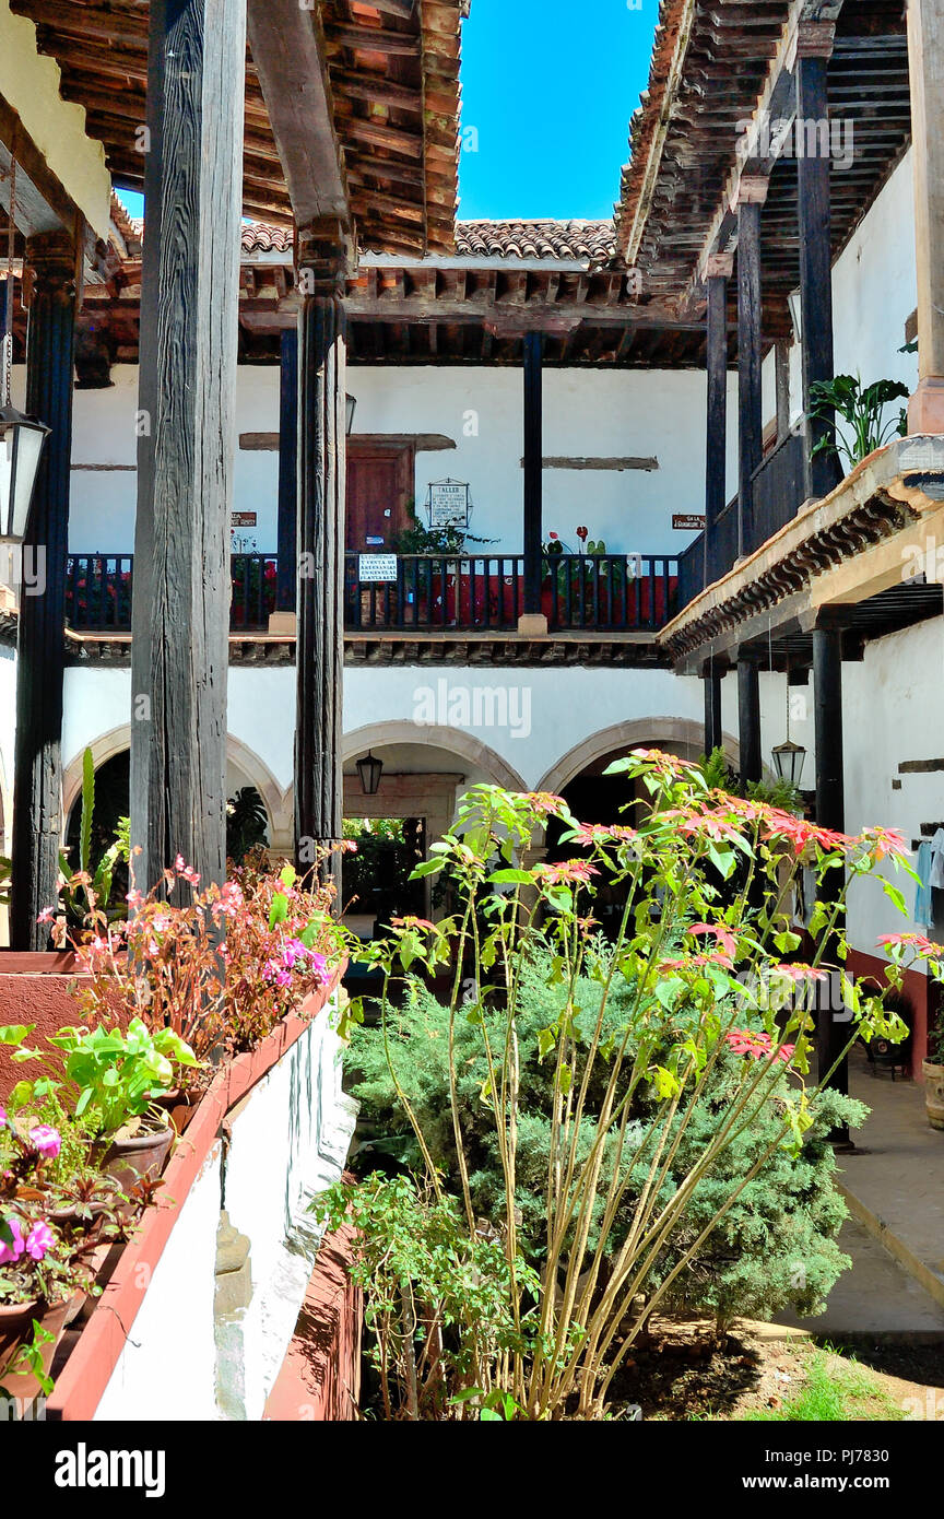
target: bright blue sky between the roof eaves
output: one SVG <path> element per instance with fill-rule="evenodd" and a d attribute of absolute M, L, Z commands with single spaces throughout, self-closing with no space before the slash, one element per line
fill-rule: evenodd
<path fill-rule="evenodd" d="M 659 0 L 472 0 L 458 214 L 609 217 Z M 121 193 L 132 216 L 141 197 Z"/>

